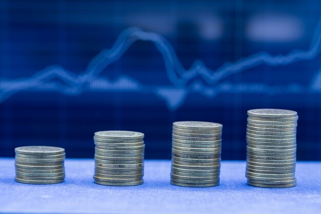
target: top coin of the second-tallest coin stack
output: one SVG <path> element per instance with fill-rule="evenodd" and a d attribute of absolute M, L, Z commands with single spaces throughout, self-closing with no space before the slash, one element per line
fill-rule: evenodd
<path fill-rule="evenodd" d="M 192 130 L 217 130 L 222 129 L 223 125 L 219 123 L 202 121 L 179 121 L 173 123 L 174 128 L 192 129 Z"/>

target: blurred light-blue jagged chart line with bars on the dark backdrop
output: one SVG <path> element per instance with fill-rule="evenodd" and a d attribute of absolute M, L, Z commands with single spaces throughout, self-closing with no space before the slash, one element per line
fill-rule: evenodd
<path fill-rule="evenodd" d="M 315 28 L 308 50 L 293 50 L 286 55 L 271 55 L 267 52 L 259 52 L 249 57 L 242 58 L 234 63 L 225 63 L 216 70 L 212 70 L 206 67 L 203 62 L 199 60 L 195 61 L 189 69 L 185 69 L 178 60 L 172 45 L 165 37 L 154 32 L 146 32 L 139 28 L 132 27 L 121 32 L 110 49 L 104 49 L 93 57 L 88 64 L 87 69 L 80 75 L 76 75 L 60 66 L 49 66 L 30 77 L 15 80 L 1 80 L 0 102 L 4 102 L 6 99 L 10 98 L 10 96 L 19 91 L 35 88 L 39 90 L 54 90 L 70 95 L 81 94 L 85 90 L 97 89 L 93 84 L 97 82 L 101 85 L 105 84 L 105 89 L 107 88 L 110 91 L 142 90 L 144 85 L 136 82 L 130 77 L 122 76 L 119 77 L 116 82 L 110 82 L 100 74 L 110 64 L 121 58 L 132 44 L 137 41 L 145 41 L 153 43 L 160 54 L 162 54 L 168 79 L 172 83 L 172 86 L 161 86 L 155 88 L 153 91 L 155 91 L 159 97 L 165 99 L 170 108 L 174 109 L 182 104 L 182 100 L 190 90 L 199 91 L 207 96 L 213 96 L 222 91 L 224 84 L 218 83 L 232 74 L 243 72 L 249 68 L 263 64 L 269 66 L 289 65 L 298 61 L 314 59 L 321 51 L 320 32 L 321 16 Z M 196 79 L 196 77 L 202 77 L 206 84 L 196 83 L 193 86 L 187 86 L 187 83 Z M 55 79 L 61 80 L 65 85 L 56 85 L 54 82 Z M 268 87 L 262 84 L 248 84 L 246 86 L 244 86 L 244 84 L 238 84 L 237 86 L 240 87 L 241 85 L 242 88 L 247 88 L 248 90 L 255 89 L 257 91 L 260 91 L 258 90 L 259 88 Z M 213 89 L 213 87 L 215 87 L 215 89 Z M 288 88 L 291 87 L 292 91 L 303 90 L 299 86 L 289 86 Z M 310 88 L 316 89 L 317 87 Z M 203 89 L 203 91 L 200 89 Z M 280 89 L 274 87 L 274 91 L 277 90 Z M 174 95 L 176 95 L 176 97 L 174 97 Z"/>

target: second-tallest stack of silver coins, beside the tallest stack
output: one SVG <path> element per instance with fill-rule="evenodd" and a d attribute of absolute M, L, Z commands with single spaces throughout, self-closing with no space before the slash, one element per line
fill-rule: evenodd
<path fill-rule="evenodd" d="M 173 123 L 171 184 L 210 187 L 219 184 L 222 128 L 218 123 Z"/>

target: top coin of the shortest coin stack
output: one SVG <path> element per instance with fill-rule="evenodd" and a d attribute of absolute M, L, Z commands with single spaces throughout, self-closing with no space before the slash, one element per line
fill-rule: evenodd
<path fill-rule="evenodd" d="M 22 146 L 14 149 L 18 154 L 30 154 L 30 155 L 55 155 L 65 153 L 64 148 L 53 146 Z"/>

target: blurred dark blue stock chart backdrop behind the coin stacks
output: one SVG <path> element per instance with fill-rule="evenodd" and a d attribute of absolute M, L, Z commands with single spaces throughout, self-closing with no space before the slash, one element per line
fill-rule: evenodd
<path fill-rule="evenodd" d="M 246 158 L 247 110 L 298 112 L 297 158 L 321 159 L 321 2 L 17 1 L 0 5 L 0 156 L 53 145 L 91 158 L 99 130 L 144 132 L 169 159 L 174 121 L 222 123 Z"/>

